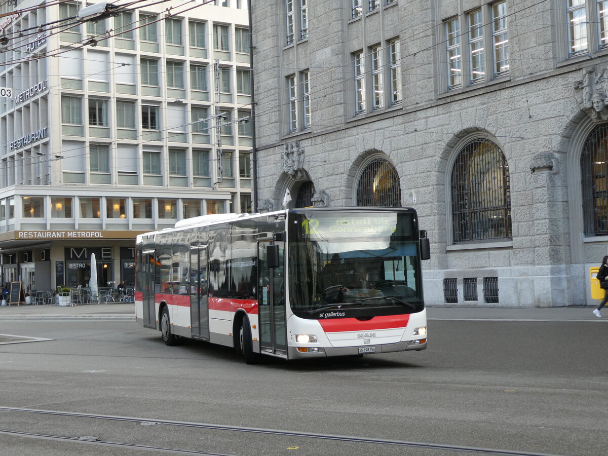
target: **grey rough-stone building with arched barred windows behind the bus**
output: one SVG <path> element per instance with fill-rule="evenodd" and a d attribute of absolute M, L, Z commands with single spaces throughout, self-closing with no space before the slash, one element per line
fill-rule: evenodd
<path fill-rule="evenodd" d="M 292 207 L 415 207 L 432 305 L 593 303 L 589 268 L 608 254 L 606 7 L 254 2 L 258 209 L 287 191 Z"/>

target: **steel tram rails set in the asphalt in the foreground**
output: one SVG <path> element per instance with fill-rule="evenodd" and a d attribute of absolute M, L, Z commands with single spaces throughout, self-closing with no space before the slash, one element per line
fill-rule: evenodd
<path fill-rule="evenodd" d="M 373 437 L 358 437 L 353 435 L 335 435 L 335 434 L 320 434 L 316 432 L 303 432 L 293 430 L 282 430 L 282 429 L 263 429 L 260 427 L 249 427 L 249 426 L 229 426 L 225 424 L 212 424 L 212 423 L 196 423 L 192 421 L 176 421 L 176 420 L 157 420 L 151 418 L 139 418 L 134 416 L 118 416 L 118 415 L 103 415 L 97 413 L 78 413 L 78 412 L 64 412 L 60 410 L 41 410 L 41 409 L 28 409 L 22 407 L 4 407 L 0 406 L 0 412 L 16 412 L 16 413 L 34 413 L 38 415 L 52 415 L 61 416 L 66 418 L 89 418 L 93 420 L 104 420 L 104 421 L 119 421 L 123 423 L 137 423 L 142 426 L 178 426 L 191 429 L 210 429 L 210 430 L 221 430 L 230 432 L 244 432 L 252 434 L 264 434 L 269 436 L 282 436 L 290 438 L 306 438 L 313 440 L 326 440 L 336 442 L 350 442 L 355 444 L 371 444 L 379 446 L 391 446 L 391 447 L 412 447 L 418 449 L 426 449 L 429 451 L 454 453 L 468 453 L 468 454 L 484 454 L 484 455 L 505 455 L 505 456 L 564 456 L 558 454 L 548 454 L 534 451 L 517 451 L 508 449 L 496 449 L 486 447 L 474 447 L 474 446 L 461 446 L 451 444 L 440 444 L 431 442 L 416 442 L 407 440 L 396 440 L 389 438 L 373 438 Z M 227 456 L 228 454 L 213 452 L 213 451 L 193 451 L 188 449 L 178 449 L 171 447 L 162 447 L 154 445 L 140 445 L 135 443 L 122 443 L 119 441 L 100 440 L 94 436 L 83 436 L 83 437 L 65 437 L 62 435 L 43 434 L 39 432 L 24 432 L 18 430 L 0 429 L 0 435 L 13 435 L 16 437 L 33 438 L 33 439 L 44 439 L 44 440 L 55 440 L 65 441 L 77 444 L 97 444 L 109 447 L 122 447 L 128 449 L 141 449 L 152 452 L 163 452 L 169 454 L 185 454 L 185 455 L 217 455 Z M 230 452 L 230 455 L 235 453 Z"/>

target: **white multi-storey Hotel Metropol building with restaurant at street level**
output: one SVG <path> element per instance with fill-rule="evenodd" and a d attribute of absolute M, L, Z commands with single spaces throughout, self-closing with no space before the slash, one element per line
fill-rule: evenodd
<path fill-rule="evenodd" d="M 0 3 L 3 283 L 133 283 L 137 233 L 250 211 L 246 0 Z"/>

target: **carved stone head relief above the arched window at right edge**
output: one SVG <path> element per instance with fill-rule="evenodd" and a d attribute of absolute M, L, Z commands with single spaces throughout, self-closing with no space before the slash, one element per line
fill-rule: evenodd
<path fill-rule="evenodd" d="M 587 67 L 582 71 L 582 81 L 574 87 L 576 103 L 582 111 L 587 112 L 596 122 L 608 120 L 608 97 L 606 91 L 606 67 Z"/>

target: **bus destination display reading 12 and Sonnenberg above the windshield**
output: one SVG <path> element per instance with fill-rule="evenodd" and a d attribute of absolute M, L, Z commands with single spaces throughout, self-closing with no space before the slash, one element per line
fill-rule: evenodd
<path fill-rule="evenodd" d="M 394 233 L 395 218 L 387 216 L 305 218 L 302 221 L 304 235 L 324 234 L 381 234 Z"/>

